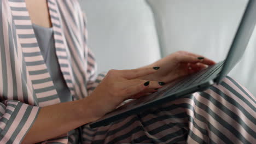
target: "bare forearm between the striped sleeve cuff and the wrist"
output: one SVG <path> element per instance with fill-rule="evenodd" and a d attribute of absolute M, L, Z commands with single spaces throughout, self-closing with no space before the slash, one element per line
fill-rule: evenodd
<path fill-rule="evenodd" d="M 95 121 L 86 99 L 42 107 L 22 143 L 37 143 Z"/>

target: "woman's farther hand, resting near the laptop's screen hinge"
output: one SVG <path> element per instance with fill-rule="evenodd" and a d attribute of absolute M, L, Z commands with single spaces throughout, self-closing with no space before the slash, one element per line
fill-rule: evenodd
<path fill-rule="evenodd" d="M 153 67 L 158 65 L 160 68 L 156 73 L 141 77 L 141 79 L 160 81 L 164 84 L 183 76 L 196 73 L 213 64 L 215 64 L 215 62 L 203 56 L 186 51 L 178 51 L 146 66 Z M 156 69 L 158 69 L 158 67 L 156 67 Z"/>

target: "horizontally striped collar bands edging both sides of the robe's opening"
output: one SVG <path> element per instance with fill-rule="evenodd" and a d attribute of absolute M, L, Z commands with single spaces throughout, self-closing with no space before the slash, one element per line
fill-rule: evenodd
<path fill-rule="evenodd" d="M 69 50 L 67 49 L 67 42 L 63 33 L 61 16 L 59 8 L 57 7 L 56 0 L 47 0 L 48 11 L 50 14 L 51 24 L 54 31 L 54 41 L 56 56 L 60 65 L 62 75 L 66 81 L 66 84 L 71 91 L 72 96 L 74 96 L 74 85 L 73 85 L 73 74 L 71 70 L 71 58 Z M 32 27 L 32 22 L 26 3 L 24 0 L 8 0 L 11 14 L 13 17 L 13 22 L 16 28 L 16 33 L 18 35 L 18 40 L 22 49 L 22 56 L 25 59 L 26 69 L 28 72 L 36 70 L 45 70 L 44 74 L 28 75 L 32 81 L 32 86 L 34 92 L 36 93 L 36 98 L 38 100 L 39 106 L 47 106 L 60 103 L 60 98 L 57 95 L 56 88 L 53 85 L 53 81 L 39 82 L 37 79 L 42 79 L 43 77 L 48 77 L 51 79 L 49 71 L 47 70 L 46 64 L 44 62 L 42 53 L 40 52 L 38 41 L 34 34 Z M 47 89 L 51 86 L 50 91 L 42 92 L 43 89 Z M 37 90 L 39 89 L 39 90 Z M 40 89 L 42 91 L 40 91 Z M 47 100 L 49 99 L 51 100 Z"/>

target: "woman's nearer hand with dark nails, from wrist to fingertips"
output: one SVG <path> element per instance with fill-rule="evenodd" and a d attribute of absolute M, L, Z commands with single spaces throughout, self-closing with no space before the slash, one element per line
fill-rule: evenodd
<path fill-rule="evenodd" d="M 139 98 L 147 93 L 156 92 L 159 85 L 157 81 L 136 79 L 141 76 L 153 74 L 159 69 L 139 68 L 132 70 L 109 70 L 101 83 L 85 98 L 87 109 L 94 116 L 94 120 L 114 110 L 124 100 Z"/>

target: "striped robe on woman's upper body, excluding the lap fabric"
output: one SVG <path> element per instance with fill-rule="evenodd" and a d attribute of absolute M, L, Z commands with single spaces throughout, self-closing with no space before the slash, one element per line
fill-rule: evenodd
<path fill-rule="evenodd" d="M 86 97 L 95 75 L 86 25 L 77 1 L 48 0 L 56 55 L 74 100 Z M 0 143 L 20 143 L 40 107 L 60 103 L 38 47 L 24 0 L 0 0 Z M 68 136 L 44 143 L 67 143 Z"/>

